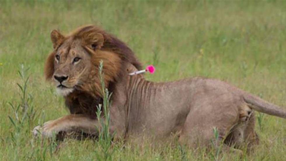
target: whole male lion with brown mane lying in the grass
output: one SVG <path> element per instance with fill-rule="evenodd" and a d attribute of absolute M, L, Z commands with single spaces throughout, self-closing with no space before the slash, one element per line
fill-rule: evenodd
<path fill-rule="evenodd" d="M 46 60 L 44 75 L 63 95 L 70 114 L 35 127 L 34 135 L 98 134 L 100 60 L 104 83 L 112 92 L 109 130 L 116 132 L 116 138 L 178 133 L 181 144 L 196 148 L 210 145 L 215 127 L 224 146 L 239 149 L 259 142 L 254 111 L 286 118 L 285 108 L 224 81 L 195 77 L 155 83 L 142 74 L 130 76 L 142 69 L 141 63 L 125 43 L 97 26 L 79 27 L 66 36 L 53 30 L 50 37 L 53 52 Z"/>

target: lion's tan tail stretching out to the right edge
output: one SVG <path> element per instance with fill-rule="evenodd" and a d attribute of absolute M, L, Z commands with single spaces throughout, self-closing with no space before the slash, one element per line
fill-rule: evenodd
<path fill-rule="evenodd" d="M 269 115 L 278 116 L 281 118 L 286 118 L 286 110 L 271 104 L 259 97 L 252 96 L 252 95 L 243 95 L 244 101 L 247 103 L 250 108 L 253 108 L 255 111 L 267 113 Z"/>

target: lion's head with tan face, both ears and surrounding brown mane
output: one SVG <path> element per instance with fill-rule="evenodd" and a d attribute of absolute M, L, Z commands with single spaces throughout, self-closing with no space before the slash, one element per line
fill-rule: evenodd
<path fill-rule="evenodd" d="M 53 30 L 50 37 L 54 51 L 46 60 L 44 74 L 64 96 L 75 90 L 101 95 L 100 60 L 107 87 L 121 76 L 127 62 L 141 69 L 130 48 L 96 26 L 80 27 L 67 36 Z"/>

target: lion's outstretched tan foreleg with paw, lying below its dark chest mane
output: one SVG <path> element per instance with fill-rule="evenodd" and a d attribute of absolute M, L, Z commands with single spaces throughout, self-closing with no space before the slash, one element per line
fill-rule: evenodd
<path fill-rule="evenodd" d="M 59 132 L 83 132 L 86 134 L 96 135 L 100 128 L 100 123 L 97 119 L 91 119 L 82 114 L 70 114 L 56 120 L 45 122 L 43 126 L 36 126 L 33 129 L 33 134 L 39 132 L 46 137 L 53 137 Z"/>

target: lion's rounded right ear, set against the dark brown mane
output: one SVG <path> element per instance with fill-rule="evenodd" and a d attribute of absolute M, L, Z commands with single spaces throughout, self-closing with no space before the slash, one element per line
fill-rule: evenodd
<path fill-rule="evenodd" d="M 93 50 L 100 49 L 104 43 L 104 37 L 100 33 L 88 33 L 84 36 L 85 45 Z"/>

